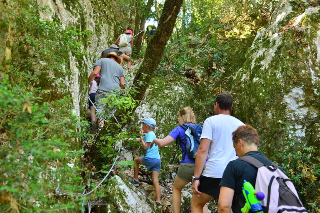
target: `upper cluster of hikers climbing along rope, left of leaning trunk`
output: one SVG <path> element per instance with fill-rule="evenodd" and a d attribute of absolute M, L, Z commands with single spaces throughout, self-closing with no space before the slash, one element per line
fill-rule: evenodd
<path fill-rule="evenodd" d="M 150 30 L 148 29 L 146 35 L 153 35 L 156 27 L 152 26 Z M 119 47 L 116 44 L 119 44 Z M 88 99 L 92 129 L 95 129 L 96 124 L 99 124 L 99 130 L 101 130 L 104 126 L 104 119 L 108 119 L 115 111 L 105 107 L 106 101 L 104 99 L 110 93 L 119 92 L 120 89 L 124 88 L 124 69 L 121 65 L 123 59 L 126 59 L 127 69 L 131 67 L 132 46 L 132 30 L 128 28 L 124 34 L 118 36 L 114 44 L 101 52 L 100 59 L 94 64 L 95 68 L 88 78 L 90 85 Z M 106 114 L 104 119 L 101 118 L 103 114 Z"/>

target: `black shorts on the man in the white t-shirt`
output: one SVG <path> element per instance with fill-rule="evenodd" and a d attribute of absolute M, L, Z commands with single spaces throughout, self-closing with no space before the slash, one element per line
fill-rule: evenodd
<path fill-rule="evenodd" d="M 218 199 L 220 194 L 220 181 L 221 178 L 200 176 L 199 192 L 203 192 Z"/>

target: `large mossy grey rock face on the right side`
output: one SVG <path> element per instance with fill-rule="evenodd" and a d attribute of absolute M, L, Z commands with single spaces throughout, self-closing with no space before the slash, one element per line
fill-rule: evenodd
<path fill-rule="evenodd" d="M 319 145 L 319 10 L 308 1 L 280 0 L 230 81 L 234 115 L 258 129 L 270 156 L 279 141 Z"/>

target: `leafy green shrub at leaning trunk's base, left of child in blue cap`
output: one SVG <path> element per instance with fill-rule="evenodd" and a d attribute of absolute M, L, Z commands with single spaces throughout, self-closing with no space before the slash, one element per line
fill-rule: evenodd
<path fill-rule="evenodd" d="M 102 99 L 105 103 L 105 112 L 99 115 L 97 120 L 106 118 L 104 122 L 104 128 L 101 128 L 97 124 L 94 128 L 93 135 L 88 137 L 84 149 L 87 150 L 87 154 L 92 157 L 93 164 L 100 169 L 106 165 L 112 164 L 116 156 L 120 155 L 118 148 L 120 141 L 124 138 L 135 138 L 136 135 L 127 131 L 121 131 L 121 128 L 129 121 L 133 120 L 133 108 L 138 103 L 132 99 L 132 94 L 135 90 L 124 90 L 121 95 L 117 92 L 111 92 Z M 116 120 L 112 114 L 118 113 Z M 120 112 L 120 113 L 119 113 Z M 126 144 L 129 146 L 137 146 L 134 140 L 126 140 Z"/>

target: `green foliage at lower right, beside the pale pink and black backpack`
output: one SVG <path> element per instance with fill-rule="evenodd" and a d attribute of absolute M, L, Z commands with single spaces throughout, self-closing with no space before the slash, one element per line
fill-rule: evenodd
<path fill-rule="evenodd" d="M 299 197 L 309 212 L 320 211 L 320 165 L 315 146 L 303 146 L 295 140 L 295 131 L 290 124 L 284 123 L 288 140 L 281 141 L 283 147 L 277 153 L 278 161 L 286 167 L 286 174 L 293 181 Z M 320 132 L 320 128 L 319 128 Z"/>

